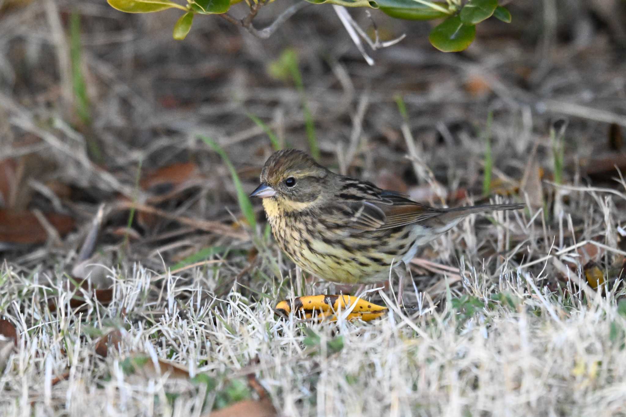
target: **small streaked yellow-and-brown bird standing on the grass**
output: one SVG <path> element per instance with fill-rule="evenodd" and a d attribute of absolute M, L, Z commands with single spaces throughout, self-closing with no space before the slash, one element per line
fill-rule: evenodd
<path fill-rule="evenodd" d="M 311 274 L 335 283 L 383 281 L 393 268 L 404 278 L 418 248 L 468 214 L 515 210 L 524 204 L 451 209 L 332 173 L 302 151 L 272 154 L 250 197 L 263 199 L 280 248 Z"/>

